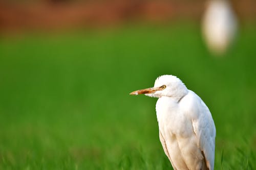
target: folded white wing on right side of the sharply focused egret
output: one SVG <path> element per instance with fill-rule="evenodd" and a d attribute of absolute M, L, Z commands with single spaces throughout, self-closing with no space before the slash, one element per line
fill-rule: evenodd
<path fill-rule="evenodd" d="M 190 111 L 193 129 L 198 140 L 198 146 L 203 152 L 207 167 L 209 170 L 213 170 L 216 137 L 214 120 L 212 119 L 208 107 L 196 93 L 192 95 L 191 99 L 191 105 L 188 109 Z"/>

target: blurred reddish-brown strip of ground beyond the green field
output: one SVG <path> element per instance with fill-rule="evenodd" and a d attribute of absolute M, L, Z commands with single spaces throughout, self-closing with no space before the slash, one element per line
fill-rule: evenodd
<path fill-rule="evenodd" d="M 125 21 L 200 20 L 206 1 L 1 1 L 0 31 L 54 30 Z M 240 20 L 256 19 L 256 1 L 232 1 Z"/>

